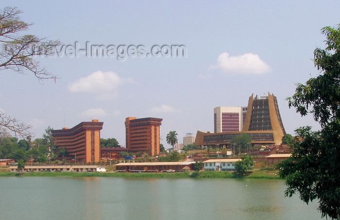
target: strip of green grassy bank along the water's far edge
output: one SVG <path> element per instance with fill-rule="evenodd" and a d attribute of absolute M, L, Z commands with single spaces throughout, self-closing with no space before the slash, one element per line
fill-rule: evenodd
<path fill-rule="evenodd" d="M 114 173 L 114 172 L 30 172 L 11 173 L 0 172 L 0 177 L 124 177 L 124 178 L 251 178 L 251 179 L 279 179 L 276 170 L 254 170 L 245 175 L 228 171 L 200 171 L 181 173 Z"/>

